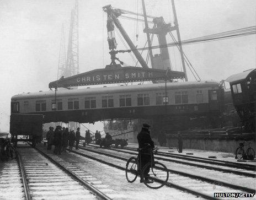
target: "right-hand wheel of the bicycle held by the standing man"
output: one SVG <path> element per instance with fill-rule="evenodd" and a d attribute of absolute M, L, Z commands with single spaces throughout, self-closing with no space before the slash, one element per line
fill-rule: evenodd
<path fill-rule="evenodd" d="M 149 176 L 147 175 L 148 167 L 150 167 Z M 142 179 L 147 187 L 158 189 L 166 185 L 169 179 L 169 172 L 162 163 L 154 162 L 153 166 L 151 166 L 151 163 L 148 163 L 143 167 Z"/>

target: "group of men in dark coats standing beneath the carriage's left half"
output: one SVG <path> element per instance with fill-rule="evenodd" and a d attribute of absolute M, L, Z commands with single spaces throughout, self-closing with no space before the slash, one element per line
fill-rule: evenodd
<path fill-rule="evenodd" d="M 73 130 L 68 131 L 68 128 L 57 126 L 49 127 L 49 131 L 46 134 L 47 139 L 47 150 L 51 150 L 54 145 L 54 154 L 60 155 L 61 152 L 66 152 L 69 145 L 70 151 L 73 148 L 74 142 L 76 141 L 76 149 L 78 149 L 80 140 L 80 128 L 77 128 L 76 133 Z"/>

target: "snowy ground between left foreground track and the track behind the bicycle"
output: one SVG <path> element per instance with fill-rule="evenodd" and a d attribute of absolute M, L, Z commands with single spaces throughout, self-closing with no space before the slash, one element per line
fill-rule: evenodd
<path fill-rule="evenodd" d="M 158 190 L 152 190 L 143 183 L 140 183 L 139 178 L 137 178 L 134 183 L 129 183 L 126 180 L 125 171 L 115 169 L 73 153 L 61 155 L 61 157 L 78 166 L 79 169 L 96 177 L 97 180 L 107 185 L 109 189 L 112 189 L 113 192 L 108 193 L 108 196 L 113 199 L 202 199 L 166 186 Z"/>

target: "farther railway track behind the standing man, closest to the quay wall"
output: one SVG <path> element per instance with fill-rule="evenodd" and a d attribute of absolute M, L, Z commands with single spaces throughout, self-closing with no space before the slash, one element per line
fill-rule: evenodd
<path fill-rule="evenodd" d="M 90 144 L 91 147 L 98 147 L 98 145 Z M 115 148 L 111 147 L 109 150 L 116 151 L 120 153 L 129 153 L 131 155 L 137 155 L 137 149 L 135 148 Z M 232 162 L 226 162 L 223 160 L 208 160 L 204 158 L 190 156 L 179 156 L 179 155 L 170 155 L 168 153 L 158 152 L 154 158 L 169 161 L 178 164 L 190 165 L 195 167 L 201 167 L 209 170 L 216 170 L 221 172 L 228 172 L 236 175 L 256 177 L 255 175 L 255 165 L 248 164 L 236 164 Z M 174 159 L 173 159 L 174 158 Z M 185 161 L 184 161 L 185 160 Z"/>

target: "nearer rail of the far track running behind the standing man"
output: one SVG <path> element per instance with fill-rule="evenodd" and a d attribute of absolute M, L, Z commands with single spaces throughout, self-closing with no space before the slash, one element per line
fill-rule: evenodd
<path fill-rule="evenodd" d="M 122 153 L 129 153 L 129 154 L 132 154 L 132 155 L 137 154 L 137 153 L 132 153 L 132 152 L 125 152 L 124 150 L 117 150 L 117 149 L 110 149 L 110 150 L 114 150 L 114 151 L 118 151 L 118 152 L 122 152 Z M 130 150 L 130 149 L 127 149 L 127 150 Z M 132 151 L 137 151 L 137 150 L 132 149 Z M 158 152 L 158 155 L 159 155 L 159 152 Z M 166 156 L 166 155 L 161 155 L 161 156 Z M 231 172 L 231 173 L 237 174 L 237 175 L 243 175 L 243 176 L 254 177 L 254 178 L 256 177 L 256 174 L 252 174 L 252 173 L 249 173 L 249 172 L 236 171 L 236 170 L 231 170 L 231 169 L 223 169 L 223 168 L 220 168 L 220 167 L 207 166 L 207 165 L 201 165 L 201 164 L 195 164 L 195 163 L 188 163 L 186 161 L 174 160 L 174 159 L 169 159 L 169 158 L 162 158 L 162 157 L 159 157 L 159 156 L 154 156 L 154 158 L 157 158 L 159 160 L 171 161 L 171 162 L 174 162 L 174 163 L 184 164 L 184 165 L 198 166 L 198 167 L 202 167 L 202 168 L 210 169 L 210 170 L 213 169 L 213 170 L 216 170 L 216 171 Z M 183 158 L 179 158 L 179 159 L 183 159 Z M 212 164 L 212 165 L 218 165 L 218 163 L 214 163 L 214 162 L 211 162 L 211 161 L 204 161 L 204 160 L 201 161 L 201 160 L 196 160 L 196 159 L 193 160 L 193 161 L 199 161 L 200 163 L 208 163 L 208 164 Z M 225 166 L 225 165 L 223 164 L 223 166 Z"/>

